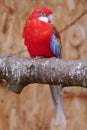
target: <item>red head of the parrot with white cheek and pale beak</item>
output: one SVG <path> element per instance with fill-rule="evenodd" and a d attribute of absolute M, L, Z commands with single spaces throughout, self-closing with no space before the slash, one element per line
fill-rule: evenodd
<path fill-rule="evenodd" d="M 41 8 L 35 9 L 31 13 L 29 20 L 38 19 L 38 20 L 46 22 L 46 23 L 51 23 L 52 17 L 53 17 L 52 10 L 50 10 L 46 7 L 41 7 Z"/>

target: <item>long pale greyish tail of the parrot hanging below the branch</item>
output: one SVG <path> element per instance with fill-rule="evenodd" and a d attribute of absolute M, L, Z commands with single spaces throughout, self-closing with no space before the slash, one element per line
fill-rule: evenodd
<path fill-rule="evenodd" d="M 62 126 L 64 130 L 66 129 L 66 117 L 64 113 L 64 100 L 62 85 L 50 85 L 50 91 L 54 103 L 55 119 L 54 124 L 56 126 Z"/>

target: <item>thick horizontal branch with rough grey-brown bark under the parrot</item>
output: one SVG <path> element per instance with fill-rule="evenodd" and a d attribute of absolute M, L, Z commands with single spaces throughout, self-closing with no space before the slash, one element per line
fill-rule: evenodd
<path fill-rule="evenodd" d="M 0 79 L 15 93 L 31 83 L 87 88 L 87 60 L 0 56 Z"/>

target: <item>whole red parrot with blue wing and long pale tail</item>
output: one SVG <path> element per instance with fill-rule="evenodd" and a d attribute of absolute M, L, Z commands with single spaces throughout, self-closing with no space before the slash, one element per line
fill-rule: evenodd
<path fill-rule="evenodd" d="M 62 59 L 61 36 L 52 21 L 53 12 L 47 7 L 36 8 L 26 20 L 23 38 L 30 57 Z M 50 91 L 54 104 L 55 124 L 66 128 L 62 84 L 50 85 Z"/>

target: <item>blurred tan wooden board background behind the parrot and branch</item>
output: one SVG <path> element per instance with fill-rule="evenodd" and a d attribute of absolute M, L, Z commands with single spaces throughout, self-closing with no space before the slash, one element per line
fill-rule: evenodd
<path fill-rule="evenodd" d="M 54 12 L 61 31 L 85 10 L 87 0 L 0 0 L 0 55 L 29 57 L 22 32 L 25 20 L 37 7 Z M 87 60 L 87 14 L 61 32 L 64 59 Z M 67 130 L 87 129 L 87 90 L 64 88 Z M 33 84 L 20 95 L 0 86 L 0 130 L 50 130 L 54 117 L 48 85 Z"/>

